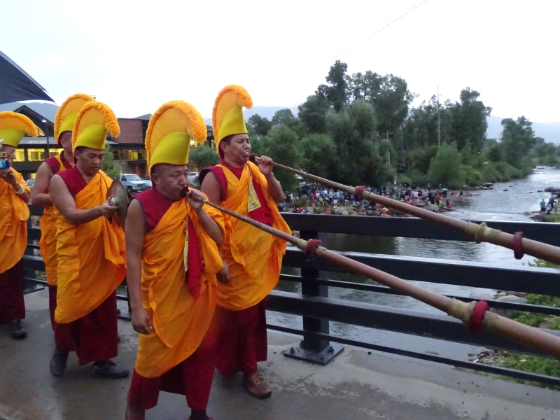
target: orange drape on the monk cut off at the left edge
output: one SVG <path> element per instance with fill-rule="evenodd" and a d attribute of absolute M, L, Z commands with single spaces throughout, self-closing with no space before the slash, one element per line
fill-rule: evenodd
<path fill-rule="evenodd" d="M 30 193 L 23 176 L 12 168 L 15 180 Z M 13 186 L 0 179 L 0 273 L 10 269 L 22 259 L 27 246 L 27 219 L 29 207 Z"/>

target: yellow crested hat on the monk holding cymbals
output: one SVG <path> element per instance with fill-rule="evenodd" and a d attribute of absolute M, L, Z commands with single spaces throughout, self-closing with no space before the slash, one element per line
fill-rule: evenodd
<path fill-rule="evenodd" d="M 78 112 L 72 130 L 72 150 L 89 147 L 98 151 L 105 148 L 107 132 L 118 137 L 120 127 L 113 110 L 102 102 L 87 102 Z"/>

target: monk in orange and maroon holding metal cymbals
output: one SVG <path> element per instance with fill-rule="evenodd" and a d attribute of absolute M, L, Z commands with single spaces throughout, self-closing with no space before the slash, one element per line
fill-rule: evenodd
<path fill-rule="evenodd" d="M 57 218 L 57 307 L 51 364 L 64 373 L 69 351 L 92 376 L 118 379 L 129 371 L 111 360 L 118 354 L 116 288 L 125 278 L 125 235 L 109 222 L 111 179 L 101 170 L 105 137 L 119 134 L 113 111 L 100 102 L 80 110 L 73 127 L 76 165 L 52 176 L 50 198 Z"/>

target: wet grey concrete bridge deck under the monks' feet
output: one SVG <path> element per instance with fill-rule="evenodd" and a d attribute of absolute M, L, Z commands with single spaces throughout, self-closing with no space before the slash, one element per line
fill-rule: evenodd
<path fill-rule="evenodd" d="M 62 378 L 50 375 L 54 346 L 43 290 L 25 297 L 29 337 L 16 342 L 0 327 L 0 420 L 124 419 L 129 379 L 92 379 L 90 366 L 69 358 Z M 137 335 L 119 321 L 120 365 L 134 366 Z M 560 394 L 459 372 L 435 363 L 368 355 L 346 347 L 330 365 L 319 367 L 284 358 L 281 350 L 297 337 L 269 332 L 269 360 L 262 373 L 273 390 L 256 400 L 240 378 L 218 374 L 208 412 L 216 420 L 384 419 L 384 420 L 552 420 L 560 419 Z M 160 393 L 158 407 L 146 419 L 187 419 L 184 397 Z"/>

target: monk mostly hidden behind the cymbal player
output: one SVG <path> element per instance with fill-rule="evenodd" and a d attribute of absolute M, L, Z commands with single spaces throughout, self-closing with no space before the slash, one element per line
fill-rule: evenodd
<path fill-rule="evenodd" d="M 58 212 L 50 200 L 50 179 L 59 172 L 71 169 L 74 166 L 72 153 L 72 130 L 76 122 L 78 112 L 88 102 L 95 99 L 87 94 L 73 94 L 59 107 L 55 117 L 55 139 L 57 146 L 62 148 L 62 153 L 46 158 L 37 170 L 35 183 L 31 189 L 31 202 L 34 206 L 43 207 L 43 216 L 39 221 L 41 227 L 41 240 L 39 246 L 41 256 L 45 262 L 45 274 L 48 282 L 48 309 L 50 313 L 50 324 L 55 332 L 55 345 L 60 341 L 57 335 L 57 323 L 55 321 L 55 309 L 57 308 L 57 217 Z M 55 351 L 50 364 L 50 372 L 54 376 L 60 376 L 62 364 L 57 363 L 59 353 L 64 353 L 62 345 L 59 351 Z M 66 355 L 67 357 L 67 355 Z"/>

